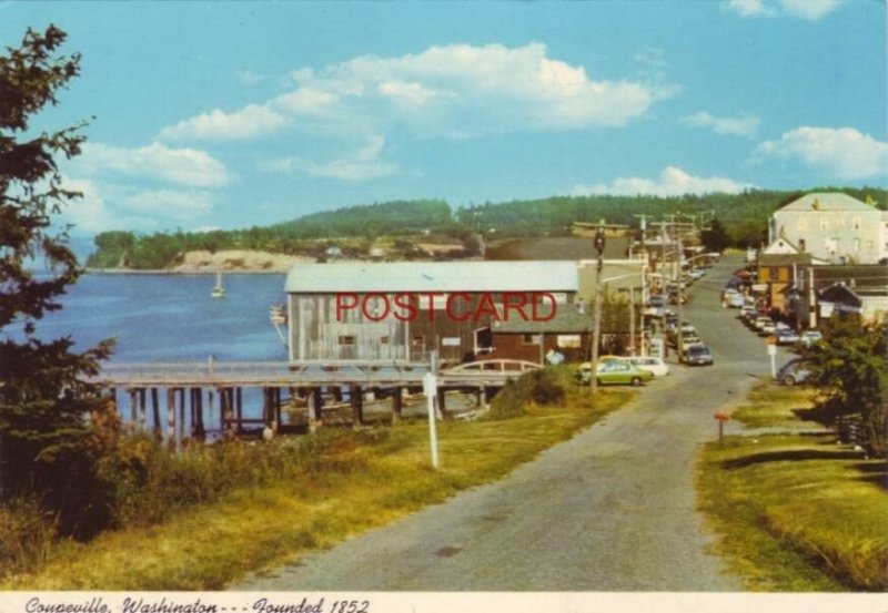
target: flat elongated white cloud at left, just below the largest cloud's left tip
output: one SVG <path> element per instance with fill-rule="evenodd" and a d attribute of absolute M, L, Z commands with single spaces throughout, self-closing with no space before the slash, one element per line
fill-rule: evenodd
<path fill-rule="evenodd" d="M 118 174 L 190 187 L 220 187 L 231 180 L 225 166 L 206 152 L 162 143 L 138 149 L 88 143 L 72 167 L 74 174 Z"/>

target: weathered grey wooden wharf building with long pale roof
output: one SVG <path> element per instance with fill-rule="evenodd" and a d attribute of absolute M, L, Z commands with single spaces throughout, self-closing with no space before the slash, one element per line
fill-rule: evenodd
<path fill-rule="evenodd" d="M 291 362 L 458 364 L 496 323 L 545 320 L 578 290 L 574 262 L 300 264 L 286 277 Z"/>

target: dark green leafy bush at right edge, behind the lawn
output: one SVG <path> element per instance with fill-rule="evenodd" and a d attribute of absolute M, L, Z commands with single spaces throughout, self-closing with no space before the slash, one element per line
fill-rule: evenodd
<path fill-rule="evenodd" d="M 817 408 L 833 417 L 859 415 L 868 446 L 886 451 L 888 436 L 888 321 L 862 325 L 857 317 L 833 317 L 824 340 L 803 356 L 808 382 L 819 392 Z"/>

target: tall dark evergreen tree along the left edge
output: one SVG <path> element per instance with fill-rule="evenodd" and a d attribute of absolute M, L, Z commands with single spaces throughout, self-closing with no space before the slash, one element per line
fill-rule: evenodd
<path fill-rule="evenodd" d="M 78 54 L 57 55 L 64 40 L 54 25 L 29 29 L 19 48 L 0 54 L 0 499 L 36 494 L 63 529 L 83 533 L 90 514 L 101 521 L 91 507 L 89 416 L 102 410 L 83 378 L 111 347 L 77 353 L 70 337 L 37 335 L 38 321 L 60 308 L 59 296 L 80 274 L 67 228 L 56 229 L 53 216 L 80 196 L 64 188 L 56 160 L 80 153 L 84 124 L 52 132 L 31 125 L 79 73 Z M 36 274 L 41 260 L 47 273 Z"/>

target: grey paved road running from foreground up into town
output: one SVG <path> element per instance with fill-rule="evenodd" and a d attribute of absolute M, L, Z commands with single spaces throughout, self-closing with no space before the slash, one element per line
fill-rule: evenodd
<path fill-rule="evenodd" d="M 714 367 L 673 366 L 632 406 L 509 477 L 234 590 L 738 591 L 695 510 L 713 413 L 769 372 L 764 341 L 718 303 L 738 260 L 694 288 L 684 317 Z"/>

